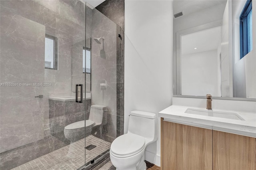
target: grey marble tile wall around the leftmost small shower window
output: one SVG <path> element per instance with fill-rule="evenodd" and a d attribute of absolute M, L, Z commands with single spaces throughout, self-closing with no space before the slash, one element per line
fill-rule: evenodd
<path fill-rule="evenodd" d="M 9 169 L 66 146 L 63 126 L 84 119 L 84 110 L 76 112 L 69 103 L 52 117 L 48 96 L 74 95 L 72 53 L 85 40 L 85 5 L 78 0 L 1 0 L 0 8 L 0 83 L 18 83 L 0 86 L 0 168 Z M 58 38 L 57 70 L 44 69 L 45 34 Z"/>

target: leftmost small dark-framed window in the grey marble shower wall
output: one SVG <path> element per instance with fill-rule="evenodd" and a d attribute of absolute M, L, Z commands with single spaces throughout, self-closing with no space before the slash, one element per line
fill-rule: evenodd
<path fill-rule="evenodd" d="M 44 68 L 57 69 L 58 65 L 58 41 L 54 36 L 45 35 Z"/>

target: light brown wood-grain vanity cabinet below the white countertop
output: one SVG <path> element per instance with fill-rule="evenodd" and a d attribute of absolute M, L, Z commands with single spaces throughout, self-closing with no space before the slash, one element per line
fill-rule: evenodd
<path fill-rule="evenodd" d="M 161 170 L 256 170 L 256 138 L 161 118 Z"/>

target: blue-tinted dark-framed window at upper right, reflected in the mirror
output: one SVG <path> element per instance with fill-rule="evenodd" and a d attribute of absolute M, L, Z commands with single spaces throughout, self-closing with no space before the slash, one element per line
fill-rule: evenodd
<path fill-rule="evenodd" d="M 247 0 L 240 15 L 240 59 L 252 51 L 252 0 Z"/>

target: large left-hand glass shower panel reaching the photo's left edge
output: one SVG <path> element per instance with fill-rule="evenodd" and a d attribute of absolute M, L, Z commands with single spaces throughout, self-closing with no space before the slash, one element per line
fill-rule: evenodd
<path fill-rule="evenodd" d="M 85 88 L 85 4 L 0 4 L 0 169 L 76 170 L 85 160 L 85 99 L 75 93 Z"/>

